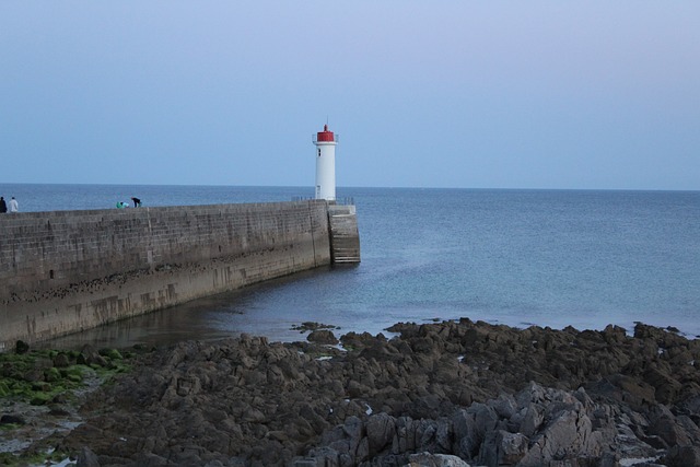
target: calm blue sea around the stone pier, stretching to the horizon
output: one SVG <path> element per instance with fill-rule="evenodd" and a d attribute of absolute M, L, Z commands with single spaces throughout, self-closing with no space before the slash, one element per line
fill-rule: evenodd
<path fill-rule="evenodd" d="M 313 187 L 0 185 L 21 211 L 289 201 Z M 469 318 L 579 330 L 635 323 L 700 337 L 700 191 L 339 187 L 362 261 L 322 267 L 48 342 L 168 345 L 303 323 L 372 335 Z M 9 215 L 9 214 L 8 214 Z"/>

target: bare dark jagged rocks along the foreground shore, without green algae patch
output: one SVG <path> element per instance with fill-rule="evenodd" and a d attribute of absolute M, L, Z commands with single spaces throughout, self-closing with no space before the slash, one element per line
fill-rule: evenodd
<path fill-rule="evenodd" d="M 700 466 L 700 340 L 462 319 L 140 354 L 57 443 L 79 466 Z"/>

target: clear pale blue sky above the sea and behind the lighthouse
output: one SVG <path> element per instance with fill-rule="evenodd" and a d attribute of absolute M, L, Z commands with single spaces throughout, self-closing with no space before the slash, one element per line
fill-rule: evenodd
<path fill-rule="evenodd" d="M 700 2 L 0 1 L 0 184 L 700 190 Z"/>

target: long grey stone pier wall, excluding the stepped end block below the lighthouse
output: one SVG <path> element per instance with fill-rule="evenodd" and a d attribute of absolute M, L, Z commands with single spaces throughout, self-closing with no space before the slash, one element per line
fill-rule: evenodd
<path fill-rule="evenodd" d="M 0 351 L 330 264 L 324 200 L 3 214 Z"/>

